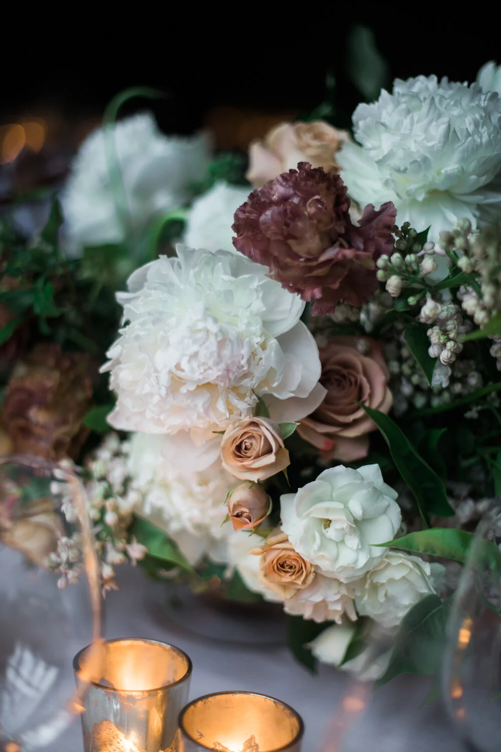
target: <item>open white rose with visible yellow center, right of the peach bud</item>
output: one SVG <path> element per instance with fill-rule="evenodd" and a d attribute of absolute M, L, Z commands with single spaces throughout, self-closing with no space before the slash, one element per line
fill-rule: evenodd
<path fill-rule="evenodd" d="M 379 465 L 324 470 L 315 481 L 281 497 L 282 530 L 301 556 L 324 575 L 350 582 L 382 559 L 400 527 L 397 492 Z"/>

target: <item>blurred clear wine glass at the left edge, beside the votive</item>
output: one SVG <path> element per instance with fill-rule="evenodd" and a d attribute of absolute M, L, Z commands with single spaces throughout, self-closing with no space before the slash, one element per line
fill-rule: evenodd
<path fill-rule="evenodd" d="M 98 660 L 101 593 L 92 526 L 73 465 L 0 457 L 0 752 L 54 749 Z"/>

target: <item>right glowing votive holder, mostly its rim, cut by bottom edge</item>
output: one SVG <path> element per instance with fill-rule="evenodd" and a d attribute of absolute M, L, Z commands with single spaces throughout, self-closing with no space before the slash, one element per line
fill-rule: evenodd
<path fill-rule="evenodd" d="M 252 692 L 199 697 L 180 714 L 183 752 L 300 752 L 303 720 L 286 705 Z"/>

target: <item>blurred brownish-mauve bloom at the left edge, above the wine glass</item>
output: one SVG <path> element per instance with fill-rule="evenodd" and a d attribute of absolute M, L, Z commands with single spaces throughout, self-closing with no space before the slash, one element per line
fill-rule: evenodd
<path fill-rule="evenodd" d="M 38 344 L 18 362 L 5 389 L 2 426 L 14 452 L 47 459 L 74 456 L 87 429 L 92 403 L 89 358 Z"/>

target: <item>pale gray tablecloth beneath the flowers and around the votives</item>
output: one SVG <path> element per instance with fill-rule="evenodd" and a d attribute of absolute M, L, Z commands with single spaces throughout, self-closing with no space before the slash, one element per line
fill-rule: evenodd
<path fill-rule="evenodd" d="M 219 690 L 251 690 L 288 702 L 306 723 L 304 752 L 462 749 L 440 705 L 422 705 L 429 688 L 426 679 L 402 677 L 373 691 L 329 666 L 312 676 L 285 646 L 217 643 L 173 624 L 163 605 L 165 585 L 149 580 L 139 568 L 119 568 L 119 585 L 119 592 L 106 599 L 108 638 L 153 638 L 181 647 L 194 665 L 192 698 Z M 68 662 L 71 658 L 68 651 Z M 81 749 L 77 719 L 52 752 Z"/>

